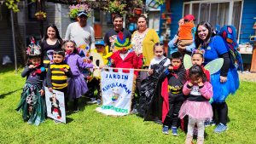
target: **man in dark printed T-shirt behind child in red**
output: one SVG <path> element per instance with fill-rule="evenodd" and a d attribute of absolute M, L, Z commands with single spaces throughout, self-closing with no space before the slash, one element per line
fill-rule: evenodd
<path fill-rule="evenodd" d="M 123 17 L 120 14 L 115 14 L 113 16 L 113 29 L 108 31 L 104 37 L 104 43 L 108 45 L 110 51 L 113 50 L 113 43 L 119 32 L 123 32 L 124 37 L 131 39 L 131 33 L 123 28 Z"/>

